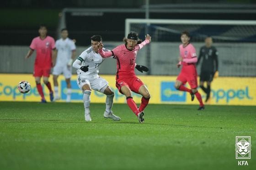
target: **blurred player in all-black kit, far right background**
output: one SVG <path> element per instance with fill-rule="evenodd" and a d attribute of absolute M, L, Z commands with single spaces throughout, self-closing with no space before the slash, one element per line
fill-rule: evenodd
<path fill-rule="evenodd" d="M 200 59 L 203 58 L 203 62 L 201 64 L 201 73 L 200 73 L 200 88 L 206 93 L 205 102 L 207 102 L 210 98 L 211 93 L 211 82 L 213 81 L 213 77 L 218 77 L 218 51 L 212 46 L 213 39 L 212 37 L 205 38 L 205 46 L 202 46 L 199 53 L 199 58 L 197 61 L 197 65 L 200 62 Z M 207 82 L 207 88 L 203 86 L 203 83 Z"/>

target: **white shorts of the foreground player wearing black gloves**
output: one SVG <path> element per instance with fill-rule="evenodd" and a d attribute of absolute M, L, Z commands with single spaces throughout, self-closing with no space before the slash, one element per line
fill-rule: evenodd
<path fill-rule="evenodd" d="M 105 80 L 102 77 L 96 77 L 96 78 L 88 78 L 88 77 L 77 77 L 77 85 L 82 90 L 82 87 L 85 84 L 89 84 L 91 86 L 91 89 L 96 90 L 98 92 L 104 93 L 105 89 L 108 86 L 107 80 Z"/>

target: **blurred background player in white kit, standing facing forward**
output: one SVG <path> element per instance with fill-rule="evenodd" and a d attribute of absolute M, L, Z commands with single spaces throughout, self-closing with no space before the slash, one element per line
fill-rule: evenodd
<path fill-rule="evenodd" d="M 75 43 L 73 40 L 69 39 L 69 33 L 66 28 L 61 30 L 61 38 L 56 41 L 57 62 L 53 68 L 53 84 L 55 96 L 53 101 L 59 100 L 59 87 L 58 87 L 58 77 L 63 73 L 66 83 L 67 83 L 67 98 L 66 102 L 71 101 L 71 83 L 70 78 L 72 76 L 72 63 L 75 59 Z"/>

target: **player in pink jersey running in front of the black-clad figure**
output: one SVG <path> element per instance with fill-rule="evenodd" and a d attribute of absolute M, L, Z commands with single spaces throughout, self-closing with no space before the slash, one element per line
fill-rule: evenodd
<path fill-rule="evenodd" d="M 181 42 L 180 47 L 180 57 L 177 67 L 182 65 L 181 72 L 178 75 L 175 88 L 180 91 L 185 91 L 191 94 L 191 100 L 194 100 L 194 95 L 196 95 L 200 106 L 197 110 L 203 110 L 204 104 L 202 101 L 201 94 L 197 91 L 197 54 L 194 46 L 190 44 L 189 32 L 181 32 Z M 184 85 L 188 82 L 191 89 L 186 88 Z"/>

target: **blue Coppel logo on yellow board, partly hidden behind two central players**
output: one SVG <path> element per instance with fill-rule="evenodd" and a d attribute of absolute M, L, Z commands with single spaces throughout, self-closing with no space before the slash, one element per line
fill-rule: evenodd
<path fill-rule="evenodd" d="M 78 87 L 76 80 L 71 80 L 71 88 L 72 88 L 72 93 L 71 93 L 71 100 L 81 100 L 83 98 L 83 93 L 82 90 Z M 67 98 L 67 83 L 65 80 L 61 81 L 61 99 L 65 100 Z M 116 87 L 111 87 L 112 90 L 115 93 L 114 101 L 120 100 L 121 98 L 124 98 L 124 102 L 126 102 L 126 98 L 124 97 L 123 94 L 118 92 L 118 89 Z M 106 98 L 106 95 L 100 92 L 97 92 L 95 90 L 92 90 L 92 93 L 96 95 L 98 98 Z M 138 97 L 141 98 L 141 96 L 137 93 L 133 93 L 133 97 Z"/>

